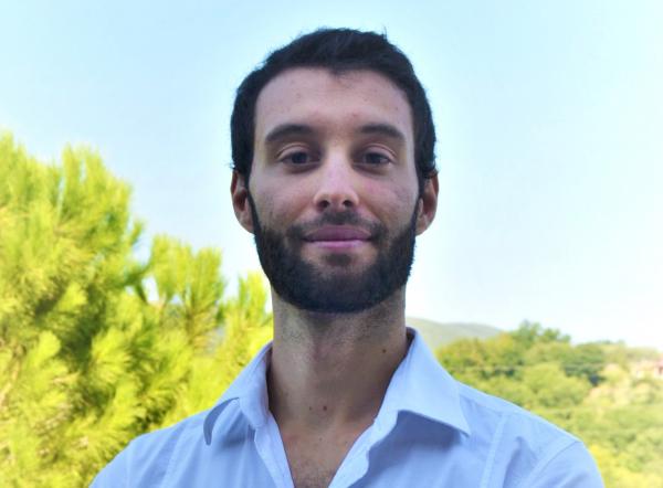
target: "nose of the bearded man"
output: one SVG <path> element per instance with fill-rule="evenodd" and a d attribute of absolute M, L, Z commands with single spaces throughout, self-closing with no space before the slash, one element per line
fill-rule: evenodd
<path fill-rule="evenodd" d="M 318 210 L 337 211 L 356 208 L 359 204 L 356 178 L 349 158 L 340 155 L 325 158 L 319 168 L 319 183 L 314 197 L 315 206 Z"/>

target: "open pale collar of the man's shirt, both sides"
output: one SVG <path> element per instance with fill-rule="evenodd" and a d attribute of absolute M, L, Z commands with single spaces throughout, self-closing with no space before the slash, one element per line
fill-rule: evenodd
<path fill-rule="evenodd" d="M 396 421 L 399 412 L 410 412 L 470 435 L 456 381 L 435 360 L 420 333 L 408 328 L 408 335 L 412 337 L 412 342 L 389 382 L 376 422 L 383 422 L 387 417 Z M 265 424 L 270 415 L 266 372 L 271 352 L 270 342 L 208 412 L 203 422 L 204 441 L 208 445 L 212 442 L 219 415 L 233 401 L 239 402 L 241 412 L 253 428 Z"/>

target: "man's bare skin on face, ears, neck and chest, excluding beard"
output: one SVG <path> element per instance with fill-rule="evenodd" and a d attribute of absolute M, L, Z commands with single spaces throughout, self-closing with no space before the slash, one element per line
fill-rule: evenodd
<path fill-rule="evenodd" d="M 288 70 L 263 88 L 255 119 L 249 190 L 262 225 L 285 231 L 340 211 L 379 222 L 391 236 L 413 211 L 418 235 L 431 224 L 438 180 L 424 180 L 419 195 L 410 106 L 382 75 Z M 290 125 L 305 130 L 273 137 Z M 236 172 L 231 194 L 239 222 L 254 232 L 246 182 Z M 351 275 L 365 270 L 377 250 L 370 241 L 319 241 L 301 253 L 323 273 Z M 402 287 L 360 312 L 320 314 L 294 307 L 272 289 L 270 410 L 295 486 L 328 486 L 371 425 L 408 349 L 404 296 Z"/>

